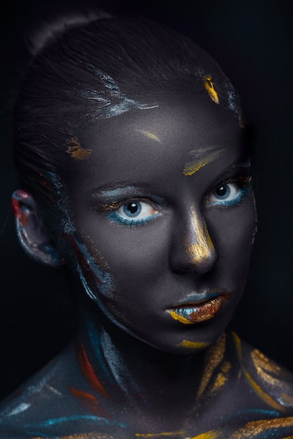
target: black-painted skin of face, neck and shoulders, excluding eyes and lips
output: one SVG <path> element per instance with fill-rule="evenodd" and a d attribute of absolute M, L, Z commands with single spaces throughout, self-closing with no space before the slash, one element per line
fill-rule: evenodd
<path fill-rule="evenodd" d="M 291 374 L 236 335 L 223 335 L 242 295 L 256 229 L 242 128 L 204 89 L 170 96 L 77 136 L 91 154 L 68 156 L 71 222 L 58 250 L 72 271 L 79 267 L 88 294 L 78 281 L 76 339 L 6 400 L 1 438 L 293 435 Z M 211 149 L 213 160 L 184 174 Z M 213 203 L 216 187 L 234 184 L 238 191 L 243 179 L 238 203 Z M 109 198 L 124 187 L 131 187 L 127 196 Z M 147 203 L 149 222 L 111 217 L 134 199 Z M 34 219 L 31 210 L 27 223 Z M 197 222 L 207 225 L 201 240 Z M 35 224 L 27 239 L 34 233 Z M 210 250 L 202 259 L 190 250 L 199 242 Z M 106 273 L 100 288 L 93 276 L 98 259 Z M 185 325 L 167 313 L 207 291 L 227 297 L 213 318 Z"/>

